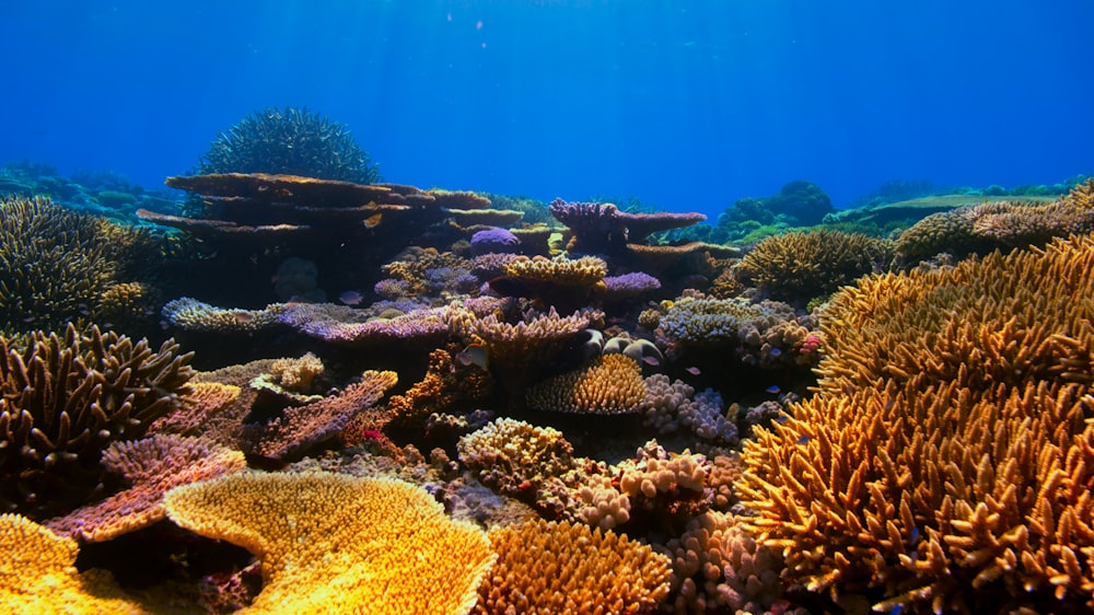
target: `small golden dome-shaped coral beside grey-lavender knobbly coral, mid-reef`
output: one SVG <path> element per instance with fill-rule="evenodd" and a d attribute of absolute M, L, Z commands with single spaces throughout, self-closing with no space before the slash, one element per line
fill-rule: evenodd
<path fill-rule="evenodd" d="M 540 382 L 527 393 L 531 408 L 593 415 L 638 413 L 644 398 L 642 368 L 626 355 L 603 355 L 587 368 Z"/>

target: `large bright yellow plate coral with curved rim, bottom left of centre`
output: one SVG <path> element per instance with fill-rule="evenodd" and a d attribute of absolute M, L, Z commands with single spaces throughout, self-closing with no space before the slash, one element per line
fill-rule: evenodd
<path fill-rule="evenodd" d="M 241 613 L 467 613 L 493 562 L 486 536 L 399 480 L 242 474 L 179 487 L 167 515 L 263 562 Z"/>

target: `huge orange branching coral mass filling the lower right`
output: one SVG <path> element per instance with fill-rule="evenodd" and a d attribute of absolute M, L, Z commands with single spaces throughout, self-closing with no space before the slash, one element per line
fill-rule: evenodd
<path fill-rule="evenodd" d="M 790 581 L 878 611 L 1094 608 L 1092 271 L 1076 236 L 836 295 L 817 394 L 737 485 Z"/>

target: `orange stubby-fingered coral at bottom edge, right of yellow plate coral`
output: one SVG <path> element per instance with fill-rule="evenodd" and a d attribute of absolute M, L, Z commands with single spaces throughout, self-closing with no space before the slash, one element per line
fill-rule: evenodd
<path fill-rule="evenodd" d="M 477 614 L 651 613 L 668 594 L 670 561 L 614 532 L 543 520 L 490 532 L 498 564 Z"/>

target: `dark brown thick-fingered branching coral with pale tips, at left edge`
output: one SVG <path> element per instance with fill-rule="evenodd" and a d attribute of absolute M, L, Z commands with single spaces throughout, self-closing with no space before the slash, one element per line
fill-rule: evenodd
<path fill-rule="evenodd" d="M 114 332 L 71 324 L 33 333 L 25 348 L 0 337 L 0 503 L 44 519 L 86 503 L 114 441 L 140 438 L 181 405 L 194 375 L 174 340 L 159 351 Z"/>

